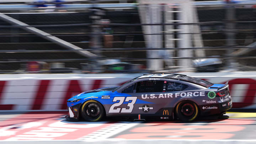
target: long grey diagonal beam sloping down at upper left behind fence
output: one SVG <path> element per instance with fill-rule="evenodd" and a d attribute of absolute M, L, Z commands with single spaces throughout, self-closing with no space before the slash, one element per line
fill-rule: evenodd
<path fill-rule="evenodd" d="M 1 14 L 0 13 L 0 19 L 3 20 L 3 21 L 6 21 L 8 23 L 11 23 L 12 25 L 19 25 L 19 26 L 29 26 L 27 25 L 26 23 L 23 23 L 21 21 L 18 21 L 16 20 L 15 18 L 12 18 L 10 16 L 7 16 L 5 14 Z M 63 46 L 65 48 L 68 48 L 68 49 L 76 49 L 76 50 L 81 50 L 81 51 L 77 51 L 77 53 L 85 56 L 85 57 L 88 57 L 88 58 L 95 58 L 95 57 L 98 57 L 97 55 L 87 51 L 87 50 L 83 50 L 82 48 L 78 47 L 78 46 L 75 46 L 74 44 L 71 44 L 69 42 L 66 42 L 60 38 L 57 38 L 49 33 L 46 33 L 44 31 L 41 31 L 35 27 L 21 27 L 23 28 L 24 30 L 26 31 L 29 31 L 29 32 L 32 32 L 34 34 L 37 34 L 38 36 L 42 36 L 42 38 L 44 39 L 47 39 L 51 42 L 54 42 L 54 43 L 57 43 L 58 45 L 60 46 Z"/>

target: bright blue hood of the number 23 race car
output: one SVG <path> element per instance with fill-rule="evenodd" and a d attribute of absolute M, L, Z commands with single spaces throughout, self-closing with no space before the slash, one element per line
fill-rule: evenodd
<path fill-rule="evenodd" d="M 90 91 L 82 92 L 81 94 L 76 95 L 75 98 L 82 98 L 82 97 L 92 96 L 95 94 L 101 95 L 102 92 L 103 93 L 106 93 L 107 91 L 112 92 L 116 88 L 117 87 L 103 87 L 100 89 L 90 90 Z"/>

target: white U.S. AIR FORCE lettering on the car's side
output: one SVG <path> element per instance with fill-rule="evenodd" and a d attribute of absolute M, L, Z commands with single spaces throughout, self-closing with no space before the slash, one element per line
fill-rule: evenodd
<path fill-rule="evenodd" d="M 154 98 L 173 98 L 173 97 L 190 97 L 190 96 L 205 96 L 205 92 L 204 91 L 195 91 L 195 92 L 178 92 L 175 94 L 143 94 L 142 95 L 142 99 L 154 99 Z"/>

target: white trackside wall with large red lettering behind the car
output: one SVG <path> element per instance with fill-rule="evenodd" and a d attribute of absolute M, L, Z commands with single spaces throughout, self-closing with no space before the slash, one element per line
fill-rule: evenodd
<path fill-rule="evenodd" d="M 256 76 L 213 74 L 188 75 L 213 83 L 229 81 L 233 108 L 256 108 Z M 0 75 L 0 112 L 66 111 L 66 100 L 76 94 L 101 87 L 120 86 L 140 75 L 142 74 Z"/>

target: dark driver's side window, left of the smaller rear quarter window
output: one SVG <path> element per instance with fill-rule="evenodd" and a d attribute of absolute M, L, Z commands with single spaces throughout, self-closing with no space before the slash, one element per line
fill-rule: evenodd
<path fill-rule="evenodd" d="M 164 81 L 149 80 L 140 81 L 137 84 L 136 92 L 162 92 Z"/>

